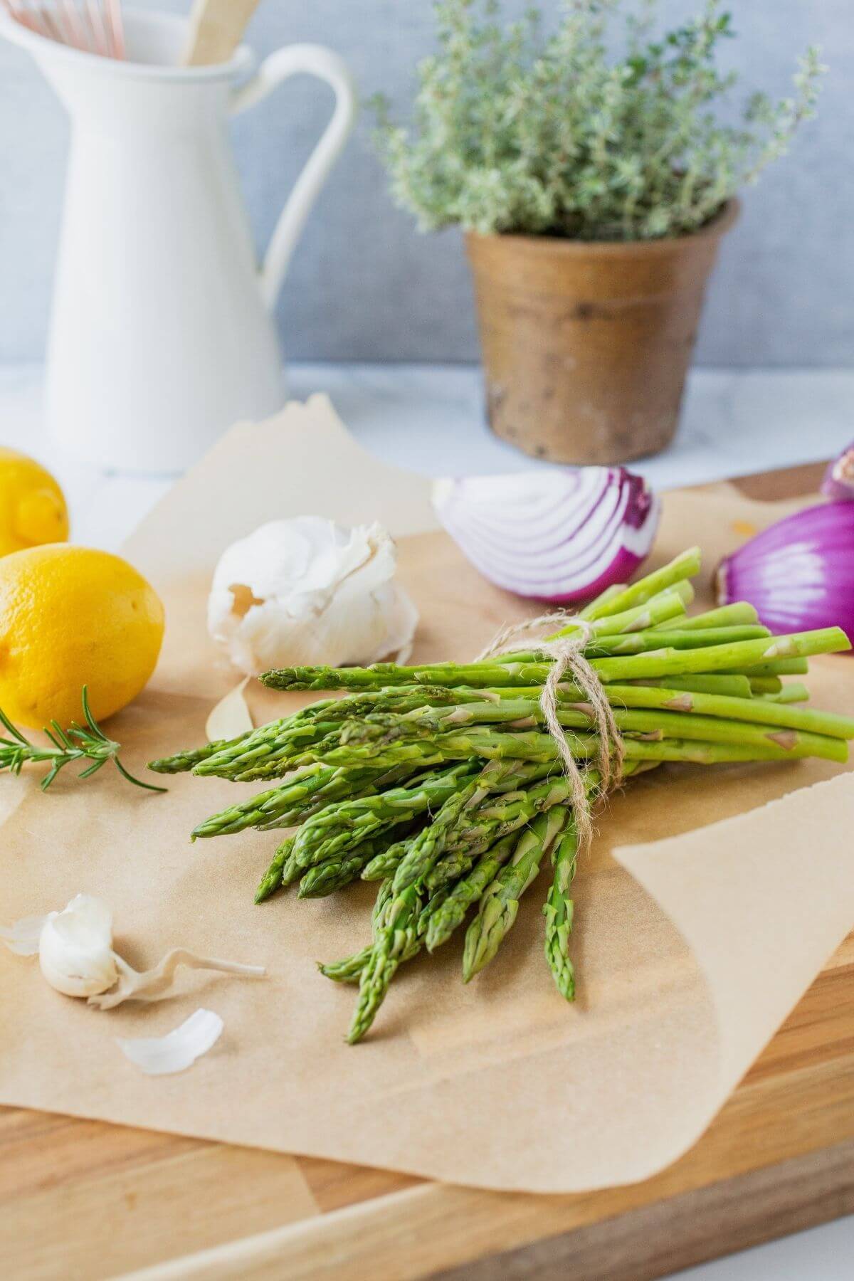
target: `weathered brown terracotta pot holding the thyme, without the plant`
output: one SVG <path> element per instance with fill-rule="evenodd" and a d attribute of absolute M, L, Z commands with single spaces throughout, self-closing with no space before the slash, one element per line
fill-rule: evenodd
<path fill-rule="evenodd" d="M 625 462 L 676 432 L 730 201 L 676 240 L 466 237 L 492 429 L 554 462 Z"/>

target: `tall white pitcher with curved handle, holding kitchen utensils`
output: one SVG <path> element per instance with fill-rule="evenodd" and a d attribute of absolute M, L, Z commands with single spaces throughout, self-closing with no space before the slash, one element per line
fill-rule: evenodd
<path fill-rule="evenodd" d="M 42 38 L 12 19 L 68 108 L 72 145 L 47 343 L 51 437 L 78 459 L 129 471 L 183 469 L 241 418 L 284 400 L 271 318 L 293 246 L 356 113 L 344 63 L 292 45 L 255 76 L 248 49 L 177 65 L 183 19 L 128 12 L 128 61 Z M 229 115 L 307 72 L 335 108 L 259 270 Z"/>

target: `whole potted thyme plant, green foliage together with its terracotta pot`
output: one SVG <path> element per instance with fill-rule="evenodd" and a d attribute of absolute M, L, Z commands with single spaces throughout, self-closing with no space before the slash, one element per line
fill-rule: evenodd
<path fill-rule="evenodd" d="M 793 96 L 735 77 L 720 0 L 656 36 L 656 0 L 571 0 L 547 35 L 533 10 L 440 0 L 408 128 L 380 99 L 392 195 L 425 231 L 458 224 L 474 270 L 493 430 L 561 462 L 617 462 L 673 437 L 708 274 L 736 192 L 786 151 L 823 68 Z M 639 5 L 635 5 L 639 8 Z"/>

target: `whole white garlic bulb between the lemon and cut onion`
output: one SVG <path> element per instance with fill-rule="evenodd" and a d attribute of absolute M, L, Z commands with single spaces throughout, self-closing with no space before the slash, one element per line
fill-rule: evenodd
<path fill-rule="evenodd" d="M 417 610 L 394 582 L 397 552 L 379 524 L 321 516 L 271 520 L 223 552 L 207 630 L 247 675 L 302 664 L 408 657 Z"/>

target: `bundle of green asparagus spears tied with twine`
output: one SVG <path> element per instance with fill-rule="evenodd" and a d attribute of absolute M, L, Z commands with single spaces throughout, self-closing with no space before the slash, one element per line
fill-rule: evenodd
<path fill-rule="evenodd" d="M 609 588 L 549 638 L 583 629 L 584 657 L 620 734 L 622 778 L 666 761 L 845 761 L 854 720 L 795 706 L 807 689 L 781 680 L 805 673 L 810 655 L 850 648 L 845 633 L 771 637 L 746 603 L 688 617 L 699 567 L 691 548 L 629 587 Z M 297 828 L 277 849 L 256 902 L 296 881 L 300 898 L 359 877 L 380 883 L 371 940 L 320 966 L 329 979 L 359 984 L 351 1043 L 371 1026 L 398 966 L 446 943 L 475 904 L 463 980 L 483 970 L 545 858 L 553 867 L 545 959 L 561 994 L 574 998 L 579 793 L 544 725 L 553 662 L 551 647 L 535 646 L 469 664 L 269 671 L 261 680 L 273 689 L 347 693 L 151 763 L 161 774 L 279 780 L 192 834 Z M 562 680 L 554 706 L 593 801 L 603 740 L 584 684 Z"/>

